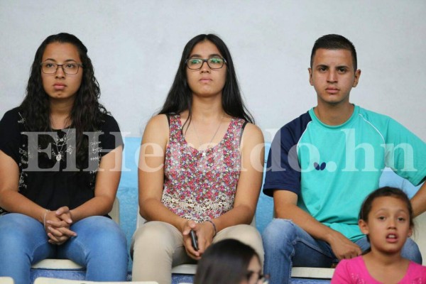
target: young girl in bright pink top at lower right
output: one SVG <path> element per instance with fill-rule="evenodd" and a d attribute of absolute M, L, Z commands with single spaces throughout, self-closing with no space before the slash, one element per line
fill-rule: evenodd
<path fill-rule="evenodd" d="M 332 283 L 426 283 L 426 266 L 400 255 L 413 226 L 413 209 L 402 190 L 382 187 L 372 192 L 359 213 L 359 227 L 371 249 L 342 260 Z"/>

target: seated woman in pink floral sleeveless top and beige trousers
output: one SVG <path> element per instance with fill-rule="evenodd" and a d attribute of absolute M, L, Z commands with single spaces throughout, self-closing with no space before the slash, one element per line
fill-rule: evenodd
<path fill-rule="evenodd" d="M 261 236 L 249 225 L 263 151 L 228 48 L 217 35 L 197 35 L 183 50 L 163 109 L 143 134 L 139 207 L 147 222 L 133 236 L 133 280 L 171 283 L 172 266 L 195 263 L 221 239 L 253 246 L 263 261 Z"/>

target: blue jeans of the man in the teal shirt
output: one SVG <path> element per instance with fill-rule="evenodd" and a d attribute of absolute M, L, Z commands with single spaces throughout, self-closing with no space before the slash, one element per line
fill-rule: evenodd
<path fill-rule="evenodd" d="M 287 219 L 273 219 L 263 231 L 265 249 L 265 274 L 270 284 L 290 283 L 293 266 L 330 268 L 338 259 L 325 241 L 312 238 L 310 234 Z M 370 244 L 366 237 L 355 242 L 362 251 Z M 407 239 L 401 255 L 422 263 L 420 250 L 412 239 Z"/>

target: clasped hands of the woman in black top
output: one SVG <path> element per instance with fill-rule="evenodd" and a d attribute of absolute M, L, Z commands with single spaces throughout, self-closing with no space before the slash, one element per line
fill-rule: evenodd
<path fill-rule="evenodd" d="M 60 207 L 56 211 L 48 211 L 45 214 L 45 231 L 48 234 L 50 244 L 61 245 L 72 236 L 77 236 L 70 230 L 72 224 L 71 211 L 68 207 Z"/>

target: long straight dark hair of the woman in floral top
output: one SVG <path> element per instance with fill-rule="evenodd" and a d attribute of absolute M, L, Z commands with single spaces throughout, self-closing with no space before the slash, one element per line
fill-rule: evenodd
<path fill-rule="evenodd" d="M 189 120 L 192 114 L 192 92 L 187 84 L 187 65 L 185 61 L 190 57 L 192 49 L 204 40 L 216 45 L 219 52 L 226 60 L 226 82 L 224 89 L 222 90 L 222 108 L 226 114 L 230 116 L 239 117 L 245 119 L 254 124 L 253 116 L 244 106 L 243 99 L 241 98 L 241 92 L 239 89 L 238 80 L 236 79 L 236 72 L 234 69 L 234 63 L 232 62 L 231 53 L 226 47 L 224 41 L 217 35 L 213 34 L 201 34 L 192 38 L 185 45 L 182 52 L 182 58 L 178 67 L 178 72 L 175 75 L 172 87 L 168 92 L 168 96 L 165 99 L 163 108 L 158 114 L 180 114 L 182 111 L 188 110 Z"/>

